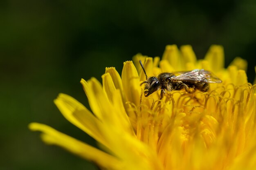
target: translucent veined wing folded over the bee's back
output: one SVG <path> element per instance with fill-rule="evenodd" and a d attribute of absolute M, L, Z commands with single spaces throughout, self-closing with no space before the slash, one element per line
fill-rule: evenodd
<path fill-rule="evenodd" d="M 210 71 L 204 69 L 195 69 L 192 71 L 183 72 L 181 75 L 175 76 L 172 79 L 180 81 L 194 81 L 202 83 L 221 83 L 221 79 L 216 77 Z"/>

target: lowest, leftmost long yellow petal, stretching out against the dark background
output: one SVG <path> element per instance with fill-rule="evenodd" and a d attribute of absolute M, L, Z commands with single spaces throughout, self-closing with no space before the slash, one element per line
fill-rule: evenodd
<path fill-rule="evenodd" d="M 47 144 L 61 146 L 84 159 L 97 163 L 97 165 L 103 168 L 114 170 L 122 169 L 121 162 L 117 158 L 77 139 L 58 132 L 47 125 L 31 123 L 29 124 L 29 129 L 43 132 L 42 139 Z"/>

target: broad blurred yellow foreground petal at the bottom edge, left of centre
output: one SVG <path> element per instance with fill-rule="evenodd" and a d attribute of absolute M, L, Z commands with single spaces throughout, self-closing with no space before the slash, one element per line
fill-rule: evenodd
<path fill-rule="evenodd" d="M 104 129 L 112 144 L 112 150 L 129 170 L 163 170 L 155 152 L 146 144 L 121 130 Z M 117 140 L 118 139 L 118 140 Z"/>

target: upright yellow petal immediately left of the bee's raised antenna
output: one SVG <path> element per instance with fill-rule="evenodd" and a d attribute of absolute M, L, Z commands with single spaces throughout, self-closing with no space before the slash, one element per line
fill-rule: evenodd
<path fill-rule="evenodd" d="M 132 61 L 124 62 L 121 77 L 128 102 L 139 106 L 141 87 L 139 86 L 139 75 Z"/>

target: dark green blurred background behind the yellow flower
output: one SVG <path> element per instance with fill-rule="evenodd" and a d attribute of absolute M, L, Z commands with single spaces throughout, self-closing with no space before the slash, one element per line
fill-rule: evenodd
<path fill-rule="evenodd" d="M 96 170 L 92 163 L 46 146 L 32 121 L 95 145 L 59 113 L 53 99 L 69 94 L 88 106 L 81 78 L 121 73 L 136 53 L 162 56 L 167 44 L 191 44 L 198 58 L 211 44 L 256 65 L 255 0 L 0 1 L 0 170 Z"/>

